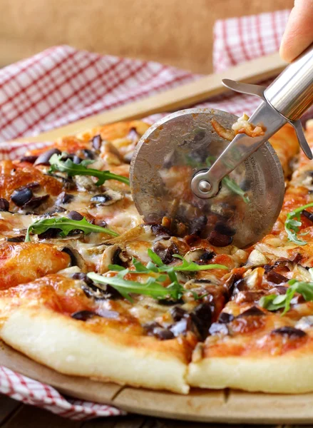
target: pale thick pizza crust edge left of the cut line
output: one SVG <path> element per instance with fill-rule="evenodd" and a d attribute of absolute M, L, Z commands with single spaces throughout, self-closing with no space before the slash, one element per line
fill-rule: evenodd
<path fill-rule="evenodd" d="M 115 332 L 118 336 L 119 332 Z M 63 374 L 188 394 L 187 363 L 171 352 L 131 346 L 81 328 L 81 322 L 45 307 L 20 307 L 4 320 L 1 339 Z M 139 337 L 139 340 L 150 337 Z"/>

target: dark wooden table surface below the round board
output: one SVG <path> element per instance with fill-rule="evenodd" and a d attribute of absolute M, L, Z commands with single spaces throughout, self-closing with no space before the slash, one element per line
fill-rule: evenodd
<path fill-rule="evenodd" d="M 199 424 L 139 415 L 103 417 L 86 422 L 64 419 L 46 410 L 28 406 L 0 395 L 0 428 L 297 428 L 312 425 L 228 425 Z"/>

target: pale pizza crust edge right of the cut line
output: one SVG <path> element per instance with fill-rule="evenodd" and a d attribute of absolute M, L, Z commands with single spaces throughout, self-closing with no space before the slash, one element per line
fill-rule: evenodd
<path fill-rule="evenodd" d="M 299 394 L 312 392 L 312 354 L 279 357 L 211 357 L 190 363 L 191 387 L 244 389 L 250 392 Z"/>

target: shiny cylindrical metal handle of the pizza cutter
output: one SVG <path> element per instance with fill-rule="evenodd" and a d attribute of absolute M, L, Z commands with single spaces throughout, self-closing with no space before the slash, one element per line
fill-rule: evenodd
<path fill-rule="evenodd" d="M 290 121 L 302 116 L 313 103 L 313 45 L 279 74 L 264 95 Z"/>

